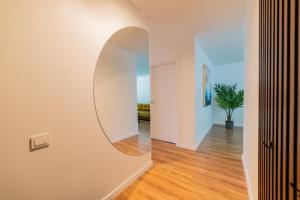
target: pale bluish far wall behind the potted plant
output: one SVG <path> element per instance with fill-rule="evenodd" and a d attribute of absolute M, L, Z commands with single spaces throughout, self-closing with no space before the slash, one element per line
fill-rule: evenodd
<path fill-rule="evenodd" d="M 225 84 L 238 84 L 237 88 L 244 89 L 244 63 L 231 63 L 225 65 L 215 66 L 214 73 L 214 83 L 225 83 Z M 226 113 L 224 110 L 220 109 L 216 102 L 213 101 L 214 107 L 214 123 L 215 124 L 225 124 Z M 233 120 L 236 126 L 243 126 L 243 113 L 244 108 L 238 108 L 233 112 Z"/>

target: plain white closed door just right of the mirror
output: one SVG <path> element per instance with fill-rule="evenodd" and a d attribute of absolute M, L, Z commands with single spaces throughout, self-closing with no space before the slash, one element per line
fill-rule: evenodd
<path fill-rule="evenodd" d="M 151 69 L 151 137 L 176 143 L 176 64 Z"/>

